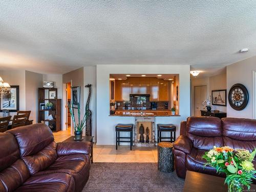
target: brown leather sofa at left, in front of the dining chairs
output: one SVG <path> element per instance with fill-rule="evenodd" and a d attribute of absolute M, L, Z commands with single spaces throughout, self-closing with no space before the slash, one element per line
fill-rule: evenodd
<path fill-rule="evenodd" d="M 45 124 L 0 133 L 0 191 L 81 191 L 89 178 L 90 142 L 55 143 Z"/>

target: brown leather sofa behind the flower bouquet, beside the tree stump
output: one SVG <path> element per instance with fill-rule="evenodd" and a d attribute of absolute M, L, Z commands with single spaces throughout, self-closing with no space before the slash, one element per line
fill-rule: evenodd
<path fill-rule="evenodd" d="M 214 145 L 245 148 L 252 152 L 256 147 L 256 120 L 188 117 L 187 121 L 181 122 L 180 136 L 173 147 L 177 175 L 185 178 L 186 170 L 191 170 L 219 176 L 215 168 L 204 166 L 206 161 L 202 159 Z M 254 166 L 255 162 L 254 158 Z"/>

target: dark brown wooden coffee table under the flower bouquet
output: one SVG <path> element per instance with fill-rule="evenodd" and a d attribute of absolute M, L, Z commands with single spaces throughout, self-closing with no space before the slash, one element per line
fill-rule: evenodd
<path fill-rule="evenodd" d="M 227 192 L 225 178 L 191 172 L 187 170 L 183 192 Z M 250 190 L 256 191 L 256 185 L 251 185 Z"/>

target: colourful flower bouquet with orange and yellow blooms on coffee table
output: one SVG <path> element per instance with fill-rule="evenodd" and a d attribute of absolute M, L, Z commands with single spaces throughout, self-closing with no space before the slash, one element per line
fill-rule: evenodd
<path fill-rule="evenodd" d="M 241 192 L 243 186 L 250 189 L 252 179 L 255 179 L 256 171 L 253 166 L 253 159 L 256 151 L 250 153 L 248 150 L 233 150 L 228 146 L 216 147 L 202 156 L 206 159 L 205 165 L 215 167 L 217 173 L 225 173 L 225 183 L 228 185 L 228 192 Z"/>

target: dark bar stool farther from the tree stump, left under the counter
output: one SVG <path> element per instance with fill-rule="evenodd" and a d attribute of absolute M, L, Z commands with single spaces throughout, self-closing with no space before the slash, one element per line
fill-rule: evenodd
<path fill-rule="evenodd" d="M 130 137 L 120 137 L 120 132 L 130 132 Z M 120 139 L 130 139 L 130 141 L 120 141 Z M 130 143 L 130 150 L 133 146 L 133 124 L 117 124 L 116 125 L 116 150 L 117 144 L 120 142 Z"/>

